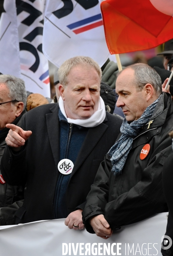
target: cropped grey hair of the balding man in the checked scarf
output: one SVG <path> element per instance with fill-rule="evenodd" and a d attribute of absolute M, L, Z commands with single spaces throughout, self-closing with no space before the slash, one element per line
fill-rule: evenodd
<path fill-rule="evenodd" d="M 144 88 L 145 84 L 151 84 L 156 92 L 156 95 L 158 97 L 161 95 L 161 77 L 156 72 L 156 70 L 144 63 L 136 63 L 130 65 L 128 67 L 125 67 L 124 70 L 127 68 L 131 68 L 135 71 L 135 84 L 137 86 L 137 91 L 141 91 Z M 120 71 L 117 76 L 119 76 L 121 72 L 123 72 L 123 70 Z"/>

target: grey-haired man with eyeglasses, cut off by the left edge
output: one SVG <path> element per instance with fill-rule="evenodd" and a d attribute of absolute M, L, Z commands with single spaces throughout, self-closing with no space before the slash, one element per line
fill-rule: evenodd
<path fill-rule="evenodd" d="M 22 79 L 0 75 L 0 159 L 6 147 L 9 129 L 6 124 L 20 125 L 26 107 L 26 90 Z M 0 168 L 1 169 L 1 168 Z M 14 214 L 23 205 L 23 186 L 11 186 L 0 171 L 0 225 L 14 224 Z"/>

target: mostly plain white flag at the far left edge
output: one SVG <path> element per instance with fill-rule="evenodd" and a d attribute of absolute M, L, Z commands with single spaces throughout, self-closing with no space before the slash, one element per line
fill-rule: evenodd
<path fill-rule="evenodd" d="M 0 73 L 21 78 L 15 0 L 4 0 L 4 10 L 0 18 Z"/>

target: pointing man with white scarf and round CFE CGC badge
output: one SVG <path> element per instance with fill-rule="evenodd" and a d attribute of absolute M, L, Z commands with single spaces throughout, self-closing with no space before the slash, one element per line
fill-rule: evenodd
<path fill-rule="evenodd" d="M 78 230 L 84 228 L 86 195 L 122 121 L 105 111 L 101 69 L 91 58 L 65 61 L 58 76 L 59 105 L 29 111 L 21 127 L 8 125 L 1 166 L 8 183 L 27 183 L 16 224 L 66 218 Z"/>

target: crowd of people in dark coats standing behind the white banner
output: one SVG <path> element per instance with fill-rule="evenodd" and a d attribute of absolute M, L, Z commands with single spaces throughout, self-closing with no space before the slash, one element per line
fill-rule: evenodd
<path fill-rule="evenodd" d="M 173 239 L 173 79 L 164 89 L 173 40 L 161 54 L 165 70 L 113 64 L 110 76 L 112 61 L 101 69 L 70 58 L 55 74 L 52 102 L 0 75 L 0 225 L 65 218 L 70 229 L 108 239 L 169 208 Z"/>

